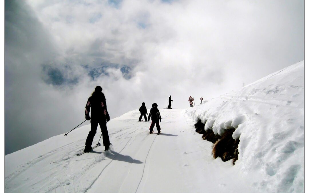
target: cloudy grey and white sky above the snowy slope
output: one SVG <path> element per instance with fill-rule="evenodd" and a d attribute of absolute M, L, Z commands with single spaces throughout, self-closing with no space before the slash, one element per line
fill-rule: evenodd
<path fill-rule="evenodd" d="M 97 85 L 115 118 L 169 95 L 188 108 L 303 59 L 303 0 L 5 1 L 5 154 L 83 122 Z"/>

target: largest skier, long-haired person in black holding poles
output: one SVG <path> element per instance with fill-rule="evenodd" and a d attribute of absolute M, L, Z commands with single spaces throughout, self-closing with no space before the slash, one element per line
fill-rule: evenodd
<path fill-rule="evenodd" d="M 91 108 L 91 118 L 89 116 Z M 86 109 L 85 109 L 86 120 L 90 120 L 91 130 L 86 139 L 86 146 L 84 152 L 90 152 L 92 150 L 91 145 L 93 141 L 93 137 L 95 136 L 96 129 L 98 124 L 100 125 L 102 131 L 102 139 L 103 145 L 105 147 L 105 151 L 109 149 L 109 136 L 106 127 L 106 123 L 109 121 L 109 115 L 106 107 L 106 99 L 104 94 L 102 93 L 102 87 L 96 86 L 95 91 L 89 97 Z"/>

